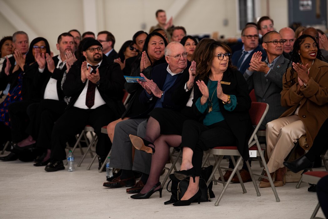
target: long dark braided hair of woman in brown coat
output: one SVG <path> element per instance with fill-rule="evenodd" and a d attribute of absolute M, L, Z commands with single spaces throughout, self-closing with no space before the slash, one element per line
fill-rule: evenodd
<path fill-rule="evenodd" d="M 288 65 L 287 65 L 287 68 L 286 68 L 286 73 L 287 73 L 287 69 L 289 68 L 289 65 L 290 65 L 292 62 L 295 62 L 295 63 L 301 63 L 301 57 L 300 57 L 300 55 L 298 55 L 298 52 L 297 52 L 297 51 L 300 50 L 300 48 L 301 48 L 301 44 L 303 44 L 304 41 L 305 41 L 305 38 L 308 38 L 308 37 L 311 38 L 311 39 L 313 39 L 313 41 L 316 43 L 316 47 L 317 47 L 317 49 L 318 49 L 318 52 L 317 52 L 317 58 L 318 58 L 319 60 L 322 60 L 322 59 L 321 59 L 321 57 L 322 57 L 322 55 L 321 55 L 321 51 L 320 51 L 320 49 L 319 49 L 319 45 L 318 45 L 316 39 L 315 39 L 313 36 L 311 36 L 311 35 L 307 35 L 307 34 L 301 35 L 300 37 L 298 37 L 298 38 L 295 40 L 294 47 L 293 47 L 293 52 L 292 52 L 292 55 L 291 55 L 290 61 L 288 62 Z M 290 83 L 290 85 L 295 84 L 295 81 L 293 80 L 293 76 L 294 76 L 294 73 L 295 73 L 294 68 L 291 67 L 291 70 L 290 70 L 290 78 L 289 78 L 289 80 L 287 80 L 287 74 L 286 74 L 286 73 L 285 73 L 285 80 L 288 81 L 288 82 Z"/>

